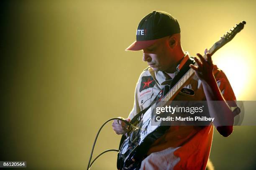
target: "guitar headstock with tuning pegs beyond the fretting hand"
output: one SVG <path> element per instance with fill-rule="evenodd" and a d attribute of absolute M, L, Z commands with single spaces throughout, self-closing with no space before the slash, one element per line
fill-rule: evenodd
<path fill-rule="evenodd" d="M 226 43 L 231 41 L 237 33 L 239 33 L 244 25 L 246 24 L 245 21 L 242 21 L 239 24 L 236 24 L 236 27 L 233 27 L 233 29 L 230 29 L 226 34 L 224 34 L 222 37 L 220 37 L 220 40 L 217 41 L 210 50 L 210 53 L 215 53 L 218 49 L 220 49 L 222 46 L 224 46 Z"/>

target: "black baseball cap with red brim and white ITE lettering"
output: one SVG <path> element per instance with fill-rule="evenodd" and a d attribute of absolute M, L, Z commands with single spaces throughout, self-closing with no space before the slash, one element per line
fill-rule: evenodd
<path fill-rule="evenodd" d="M 179 23 L 169 13 L 153 11 L 146 15 L 138 25 L 136 41 L 125 51 L 139 51 L 153 45 L 158 39 L 180 33 Z"/>

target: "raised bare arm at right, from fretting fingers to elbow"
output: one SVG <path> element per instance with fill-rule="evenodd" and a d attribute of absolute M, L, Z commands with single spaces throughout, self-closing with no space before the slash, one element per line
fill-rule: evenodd
<path fill-rule="evenodd" d="M 202 81 L 210 116 L 215 117 L 214 125 L 216 129 L 221 135 L 227 137 L 233 131 L 233 113 L 220 93 L 220 89 L 212 73 L 213 63 L 211 55 L 207 53 L 207 60 L 205 60 L 199 53 L 197 56 L 199 58 L 195 58 L 195 61 L 198 66 L 190 65 L 190 67 L 195 70 L 198 79 Z M 218 102 L 218 106 L 216 106 L 215 101 L 222 102 Z M 221 126 L 223 124 L 227 124 L 228 126 Z"/>

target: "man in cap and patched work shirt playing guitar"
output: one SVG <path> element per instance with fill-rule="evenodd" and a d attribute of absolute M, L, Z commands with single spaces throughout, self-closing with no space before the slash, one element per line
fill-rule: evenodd
<path fill-rule="evenodd" d="M 150 106 L 165 85 L 171 85 L 182 69 L 192 68 L 194 76 L 185 84 L 174 100 L 207 100 L 214 125 L 224 137 L 233 131 L 234 116 L 238 114 L 236 97 L 223 71 L 212 64 L 211 55 L 205 60 L 199 53 L 194 58 L 184 52 L 180 41 L 177 19 L 163 11 L 153 11 L 138 25 L 136 41 L 126 50 L 143 50 L 143 61 L 148 63 L 138 79 L 134 107 L 126 119 L 128 122 Z M 207 50 L 206 50 L 207 51 Z M 206 53 L 205 51 L 205 53 Z M 211 101 L 223 101 L 215 107 Z M 230 107 L 234 107 L 232 112 Z M 236 111 L 236 112 L 235 112 Z M 224 113 L 224 114 L 223 114 Z M 223 120 L 228 126 L 222 126 Z M 113 121 L 116 134 L 125 134 L 127 126 L 122 121 Z M 171 126 L 157 139 L 141 162 L 141 170 L 205 169 L 210 155 L 213 126 Z"/>

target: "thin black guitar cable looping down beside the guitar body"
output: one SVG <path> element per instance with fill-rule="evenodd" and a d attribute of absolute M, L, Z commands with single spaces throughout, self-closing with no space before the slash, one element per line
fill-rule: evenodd
<path fill-rule="evenodd" d="M 88 162 L 87 170 L 90 170 L 90 167 L 92 166 L 92 164 L 97 160 L 98 157 L 100 157 L 100 156 L 103 155 L 104 153 L 110 152 L 110 151 L 116 151 L 116 152 L 119 151 L 119 150 L 115 150 L 115 149 L 105 150 L 105 151 L 102 152 L 100 155 L 98 155 L 98 156 L 92 161 L 92 163 L 91 163 L 93 150 L 94 150 L 94 147 L 95 147 L 97 138 L 98 138 L 98 136 L 99 136 L 99 134 L 100 134 L 100 131 L 101 131 L 101 129 L 105 126 L 105 124 L 107 124 L 107 123 L 110 122 L 111 120 L 121 120 L 121 121 L 125 122 L 126 124 L 128 124 L 128 126 L 133 127 L 133 124 L 131 124 L 130 122 L 127 122 L 125 119 L 121 119 L 121 118 L 118 118 L 118 117 L 109 119 L 109 120 L 107 120 L 104 124 L 102 124 L 102 126 L 100 127 L 100 129 L 99 129 L 99 131 L 98 131 L 98 133 L 97 133 L 97 135 L 96 135 L 96 137 L 95 137 L 94 143 L 93 143 L 93 145 L 92 145 L 92 152 L 91 152 L 90 159 L 89 159 L 89 162 Z"/>

